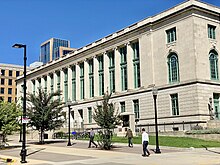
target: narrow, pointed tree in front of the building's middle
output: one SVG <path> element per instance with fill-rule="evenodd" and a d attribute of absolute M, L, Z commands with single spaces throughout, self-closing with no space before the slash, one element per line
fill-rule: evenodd
<path fill-rule="evenodd" d="M 112 130 L 119 124 L 120 117 L 115 105 L 109 103 L 111 94 L 106 92 L 101 105 L 94 109 L 93 119 L 101 130 L 98 132 L 98 144 L 101 148 L 109 150 L 112 146 Z"/>

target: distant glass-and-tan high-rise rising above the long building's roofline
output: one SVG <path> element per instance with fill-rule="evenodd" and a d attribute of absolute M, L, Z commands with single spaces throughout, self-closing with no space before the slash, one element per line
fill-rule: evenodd
<path fill-rule="evenodd" d="M 41 44 L 40 62 L 48 63 L 74 50 L 70 48 L 70 41 L 51 38 Z"/>

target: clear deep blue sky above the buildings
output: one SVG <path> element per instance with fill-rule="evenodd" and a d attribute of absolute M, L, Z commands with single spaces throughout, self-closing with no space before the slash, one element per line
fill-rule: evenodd
<path fill-rule="evenodd" d="M 184 0 L 0 0 L 0 63 L 27 65 L 39 60 L 40 44 L 50 38 L 81 48 Z M 203 0 L 220 7 L 220 0 Z"/>

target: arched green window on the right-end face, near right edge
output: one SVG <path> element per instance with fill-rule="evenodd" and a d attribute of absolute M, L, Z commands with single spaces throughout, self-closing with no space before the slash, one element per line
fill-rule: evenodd
<path fill-rule="evenodd" d="M 209 62 L 211 79 L 218 80 L 218 54 L 216 51 L 210 51 Z"/>

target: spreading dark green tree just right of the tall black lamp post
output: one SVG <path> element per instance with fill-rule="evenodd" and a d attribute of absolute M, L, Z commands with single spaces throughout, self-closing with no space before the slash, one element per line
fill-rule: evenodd
<path fill-rule="evenodd" d="M 38 88 L 37 95 L 28 93 L 27 102 L 30 106 L 27 108 L 27 116 L 29 118 L 28 126 L 40 132 L 40 143 L 44 143 L 44 132 L 60 128 L 64 119 L 62 119 L 62 102 L 59 97 L 61 91 L 47 93 Z"/>

